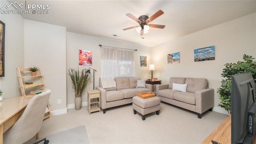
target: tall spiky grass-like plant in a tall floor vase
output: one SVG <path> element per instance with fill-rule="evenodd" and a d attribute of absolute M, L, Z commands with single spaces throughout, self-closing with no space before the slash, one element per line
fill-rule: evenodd
<path fill-rule="evenodd" d="M 69 68 L 68 69 L 68 76 L 70 76 L 73 88 L 75 91 L 75 109 L 80 110 L 82 106 L 82 92 L 84 88 L 92 83 L 91 78 L 92 75 L 86 74 L 87 69 L 82 69 L 79 71 L 79 68 Z"/>

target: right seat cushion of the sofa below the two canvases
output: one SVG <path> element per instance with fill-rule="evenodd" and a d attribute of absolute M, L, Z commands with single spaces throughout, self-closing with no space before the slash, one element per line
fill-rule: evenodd
<path fill-rule="evenodd" d="M 173 95 L 174 100 L 196 105 L 196 94 L 192 92 L 177 92 Z"/>

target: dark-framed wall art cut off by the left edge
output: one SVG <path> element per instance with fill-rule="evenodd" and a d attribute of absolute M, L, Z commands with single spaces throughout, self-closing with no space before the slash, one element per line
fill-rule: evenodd
<path fill-rule="evenodd" d="M 0 77 L 4 77 L 4 33 L 5 24 L 0 20 Z"/>

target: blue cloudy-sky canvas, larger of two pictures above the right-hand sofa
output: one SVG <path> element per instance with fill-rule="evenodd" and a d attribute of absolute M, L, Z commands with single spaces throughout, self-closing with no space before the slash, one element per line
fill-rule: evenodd
<path fill-rule="evenodd" d="M 215 59 L 214 46 L 208 46 L 205 48 L 194 49 L 194 58 L 195 59 L 206 59 L 206 60 L 208 60 L 209 58 Z M 212 59 L 210 59 L 210 60 L 212 60 Z"/>

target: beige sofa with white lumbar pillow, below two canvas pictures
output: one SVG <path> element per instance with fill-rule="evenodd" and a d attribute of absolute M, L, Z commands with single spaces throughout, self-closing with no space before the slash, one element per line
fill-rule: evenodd
<path fill-rule="evenodd" d="M 206 78 L 171 77 L 169 84 L 156 85 L 156 96 L 162 102 L 196 112 L 198 118 L 214 106 L 214 89 L 208 88 Z"/>

